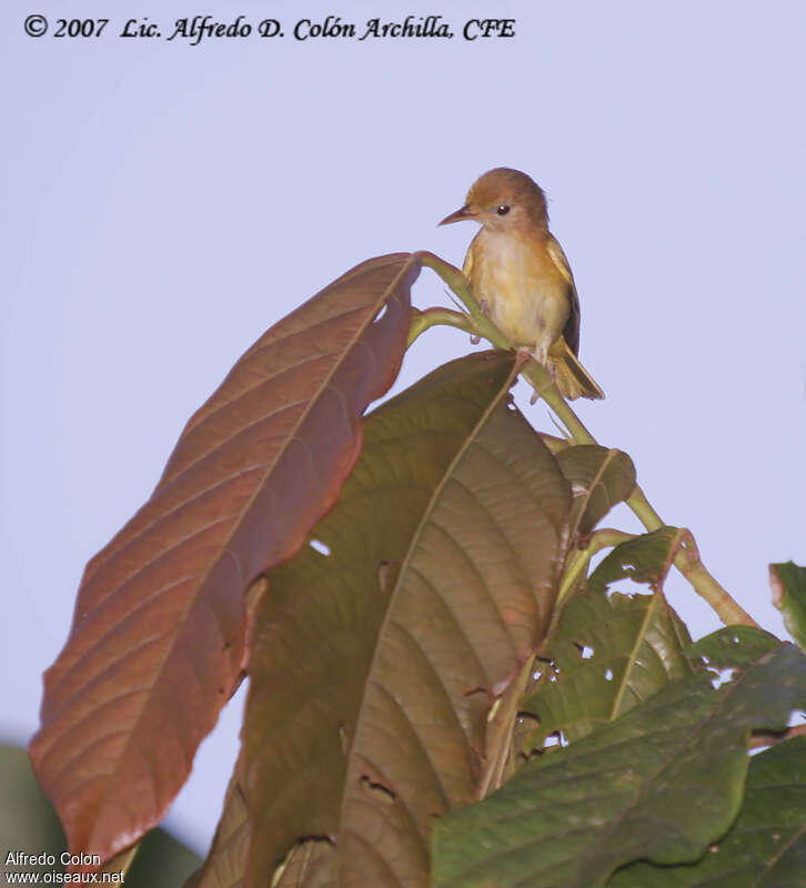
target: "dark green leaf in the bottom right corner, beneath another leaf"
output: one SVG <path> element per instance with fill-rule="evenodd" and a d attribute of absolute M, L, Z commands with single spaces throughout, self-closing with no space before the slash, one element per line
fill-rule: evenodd
<path fill-rule="evenodd" d="M 754 756 L 738 819 L 696 864 L 638 861 L 608 888 L 806 888 L 806 737 Z"/>

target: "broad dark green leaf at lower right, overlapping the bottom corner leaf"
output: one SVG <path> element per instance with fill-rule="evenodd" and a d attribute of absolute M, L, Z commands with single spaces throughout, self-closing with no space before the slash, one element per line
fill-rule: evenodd
<path fill-rule="evenodd" d="M 778 645 L 714 689 L 673 682 L 595 734 L 527 763 L 434 830 L 434 888 L 597 888 L 644 858 L 697 860 L 733 823 L 755 728 L 806 704 L 806 657 Z"/>

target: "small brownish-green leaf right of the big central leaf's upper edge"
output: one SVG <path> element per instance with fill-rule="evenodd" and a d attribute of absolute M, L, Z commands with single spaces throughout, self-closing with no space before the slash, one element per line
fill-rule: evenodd
<path fill-rule="evenodd" d="M 572 538 L 586 537 L 614 505 L 635 487 L 635 466 L 626 453 L 588 444 L 561 450 L 557 463 L 571 482 Z"/>

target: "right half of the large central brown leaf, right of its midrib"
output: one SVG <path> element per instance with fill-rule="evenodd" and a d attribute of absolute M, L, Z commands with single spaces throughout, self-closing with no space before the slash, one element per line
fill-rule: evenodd
<path fill-rule="evenodd" d="M 434 497 L 381 627 L 342 803 L 345 888 L 427 885 L 434 824 L 494 779 L 491 707 L 547 628 L 568 508 L 554 457 L 502 398 Z"/>

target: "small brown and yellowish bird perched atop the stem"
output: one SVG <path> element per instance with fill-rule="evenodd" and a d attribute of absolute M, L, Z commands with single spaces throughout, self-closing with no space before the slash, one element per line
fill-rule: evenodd
<path fill-rule="evenodd" d="M 546 195 L 526 173 L 498 167 L 476 179 L 441 225 L 481 222 L 462 271 L 482 311 L 527 349 L 567 398 L 604 397 L 578 362 L 580 297 L 563 248 L 548 231 Z"/>

